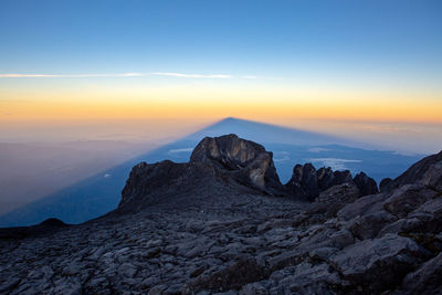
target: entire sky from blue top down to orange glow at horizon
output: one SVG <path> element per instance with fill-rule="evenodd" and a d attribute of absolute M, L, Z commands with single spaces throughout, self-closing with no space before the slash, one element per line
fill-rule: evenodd
<path fill-rule="evenodd" d="M 2 0 L 0 139 L 228 116 L 439 128 L 441 15 L 439 0 Z"/>

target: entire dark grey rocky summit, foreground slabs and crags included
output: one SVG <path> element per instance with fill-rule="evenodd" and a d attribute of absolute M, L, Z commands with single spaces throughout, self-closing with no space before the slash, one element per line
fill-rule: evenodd
<path fill-rule="evenodd" d="M 1 294 L 442 294 L 442 152 L 396 179 L 227 135 L 135 166 L 117 209 L 0 230 Z"/>

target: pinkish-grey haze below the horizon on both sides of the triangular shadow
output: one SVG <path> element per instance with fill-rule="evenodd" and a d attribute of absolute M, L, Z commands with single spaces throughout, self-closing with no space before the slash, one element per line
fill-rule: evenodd
<path fill-rule="evenodd" d="M 1 126 L 0 214 L 210 123 L 213 120 L 155 119 Z M 442 147 L 440 125 L 295 119 L 291 127 L 339 136 L 359 148 L 412 155 L 435 152 Z"/>

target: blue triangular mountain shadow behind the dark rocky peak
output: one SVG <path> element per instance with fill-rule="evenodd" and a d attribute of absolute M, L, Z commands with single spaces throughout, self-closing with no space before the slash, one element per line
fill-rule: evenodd
<path fill-rule="evenodd" d="M 170 159 L 189 160 L 193 147 L 204 136 L 236 134 L 261 143 L 274 152 L 274 164 L 283 182 L 292 177 L 295 164 L 312 162 L 316 168 L 349 169 L 354 175 L 362 170 L 380 182 L 396 177 L 421 156 L 404 156 L 393 151 L 356 148 L 350 140 L 318 133 L 309 133 L 238 118 L 225 118 L 194 134 L 136 157 L 84 181 L 70 186 L 0 217 L 0 226 L 30 225 L 48 218 L 80 223 L 115 209 L 120 190 L 133 166 L 140 161 L 156 162 Z"/>

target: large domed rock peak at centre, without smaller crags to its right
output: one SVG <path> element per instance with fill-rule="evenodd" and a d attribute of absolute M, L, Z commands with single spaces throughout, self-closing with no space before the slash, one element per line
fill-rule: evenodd
<path fill-rule="evenodd" d="M 227 188 L 283 196 L 273 154 L 235 135 L 206 137 L 190 161 L 165 160 L 135 166 L 122 193 L 119 210 L 138 211 L 148 204 L 173 201 L 177 194 L 198 194 Z"/>

